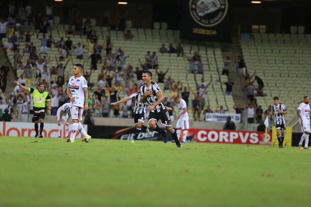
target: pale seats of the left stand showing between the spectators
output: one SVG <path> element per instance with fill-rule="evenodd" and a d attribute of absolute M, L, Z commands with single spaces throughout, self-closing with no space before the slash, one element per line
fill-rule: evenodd
<path fill-rule="evenodd" d="M 59 17 L 54 17 L 56 19 L 55 22 L 58 22 Z M 228 80 L 227 76 L 220 75 L 223 68 L 223 57 L 220 49 L 219 43 L 210 43 L 210 42 L 197 42 L 197 41 L 187 41 L 187 40 L 180 40 L 179 39 L 179 30 L 166 30 L 166 29 L 160 29 L 167 28 L 166 23 L 158 23 L 154 22 L 154 28 L 157 29 L 134 29 L 134 28 L 126 28 L 126 30 L 130 30 L 133 34 L 132 40 L 126 40 L 124 38 L 124 33 L 122 31 L 115 31 L 115 30 L 108 30 L 107 27 L 98 27 L 96 25 L 96 21 L 92 20 L 92 27 L 94 30 L 97 31 L 99 41 L 98 44 L 103 44 L 104 39 L 107 35 L 110 36 L 111 41 L 114 41 L 114 45 L 112 48 L 112 53 L 114 53 L 117 48 L 121 48 L 122 51 L 124 51 L 125 55 L 130 55 L 129 58 L 126 59 L 126 64 L 129 64 L 130 62 L 133 63 L 133 66 L 138 66 L 138 58 L 143 58 L 147 51 L 156 52 L 158 54 L 158 62 L 159 62 L 159 70 L 165 70 L 166 68 L 170 68 L 169 72 L 166 76 L 171 76 L 173 80 L 181 81 L 183 83 L 183 86 L 186 86 L 188 89 L 191 87 L 193 90 L 196 88 L 196 84 L 194 81 L 194 76 L 196 76 L 196 79 L 198 81 L 201 80 L 202 77 L 205 78 L 205 82 L 209 82 L 210 79 L 213 79 L 213 82 L 216 80 L 220 80 L 223 82 L 226 82 Z M 68 36 L 71 37 L 71 40 L 73 41 L 73 44 L 75 43 L 82 43 L 84 40 L 84 44 L 86 44 L 86 47 L 83 49 L 83 57 L 86 58 L 88 56 L 88 46 L 85 41 L 85 37 L 82 35 L 68 35 L 66 34 L 66 31 L 68 30 L 69 25 L 60 25 L 60 24 L 54 24 L 54 30 L 51 31 L 52 37 L 54 38 L 54 41 L 57 42 L 61 37 L 64 37 L 64 40 L 67 39 Z M 31 31 L 34 30 L 34 28 L 31 28 Z M 41 37 L 42 34 L 39 34 L 39 37 Z M 4 42 L 7 41 L 7 39 L 3 39 Z M 40 40 L 36 39 L 35 35 L 31 37 L 31 42 L 34 43 L 34 45 L 37 48 L 40 48 Z M 182 42 L 182 47 L 184 48 L 184 52 L 189 56 L 192 57 L 194 52 L 198 52 L 201 56 L 202 62 L 212 62 L 211 65 L 205 65 L 204 66 L 204 74 L 191 74 L 188 73 L 189 71 L 189 63 L 186 60 L 186 58 L 182 57 L 176 57 L 176 54 L 169 54 L 164 53 L 161 55 L 159 53 L 159 48 L 162 43 L 165 45 L 168 45 L 169 43 L 173 43 L 173 45 L 177 45 L 178 43 Z M 148 44 L 146 44 L 148 43 Z M 22 43 L 20 45 L 20 48 L 22 49 L 24 47 L 25 43 Z M 104 53 L 104 52 L 103 52 Z M 8 51 L 7 56 L 9 57 L 9 60 L 12 65 L 14 65 L 14 59 L 13 53 Z M 52 45 L 52 48 L 48 49 L 48 57 L 53 59 L 55 56 L 59 57 L 59 48 L 55 48 L 54 45 Z M 75 59 L 75 51 L 72 51 L 72 58 L 73 62 L 82 62 L 78 59 Z M 22 59 L 22 63 L 25 63 L 28 58 L 28 55 L 26 54 Z M 67 59 L 65 59 L 64 62 L 66 62 Z M 95 70 L 93 72 L 93 75 L 91 76 L 90 82 L 97 83 L 97 75 L 100 73 L 101 66 L 103 64 L 98 63 L 97 68 L 98 70 Z M 108 61 L 109 63 L 109 61 Z M 54 62 L 50 62 L 48 64 L 48 68 L 51 67 L 52 64 L 55 64 Z M 89 71 L 91 61 L 87 60 L 85 63 L 84 68 Z M 67 66 L 67 68 L 70 67 L 70 62 Z M 33 78 L 31 80 L 32 83 L 35 83 L 35 71 L 36 69 L 33 68 Z M 66 69 L 66 71 L 69 71 Z M 153 72 L 154 70 L 151 69 Z M 19 77 L 23 73 L 22 70 L 17 71 L 17 77 Z M 155 71 L 154 71 L 155 74 Z M 52 75 L 51 80 L 55 79 L 56 75 Z M 70 71 L 69 71 L 70 76 Z M 154 80 L 157 80 L 157 77 L 153 78 Z M 164 84 L 159 83 L 160 87 L 164 89 Z M 30 85 L 28 85 L 30 86 Z M 132 86 L 132 83 L 130 87 Z M 216 108 L 218 105 L 233 105 L 233 98 L 232 96 L 225 95 L 225 88 L 221 86 L 221 84 L 212 84 L 207 89 L 207 96 L 205 96 L 205 105 L 210 104 L 211 108 Z M 170 90 L 165 90 L 164 95 L 167 95 L 170 97 Z M 121 98 L 123 97 L 123 94 L 121 93 Z M 189 105 L 191 107 L 191 101 L 194 99 L 193 94 L 190 94 L 189 97 Z M 189 108 L 190 109 L 190 108 Z M 190 120 L 193 120 L 193 115 L 191 110 L 188 110 Z M 111 113 L 112 115 L 112 113 Z"/>

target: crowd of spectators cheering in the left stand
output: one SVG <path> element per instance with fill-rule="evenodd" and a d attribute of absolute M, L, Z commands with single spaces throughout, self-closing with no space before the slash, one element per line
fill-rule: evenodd
<path fill-rule="evenodd" d="M 163 91 L 170 90 L 170 97 L 166 96 L 165 98 L 167 105 L 171 104 L 171 107 L 173 108 L 175 104 L 173 102 L 173 97 L 179 96 L 186 101 L 187 106 L 191 104 L 194 120 L 201 121 L 201 113 L 203 117 L 206 113 L 213 113 L 210 109 L 210 105 L 205 108 L 205 96 L 207 94 L 207 88 L 212 80 L 206 83 L 204 78 L 202 78 L 201 82 L 198 83 L 195 76 L 194 81 L 196 82 L 196 89 L 189 88 L 195 98 L 189 100 L 190 92 L 188 91 L 188 88 L 183 87 L 181 81 L 175 81 L 167 75 L 169 68 L 164 70 L 164 68 L 159 67 L 157 52 L 162 55 L 164 53 L 176 53 L 177 57 L 185 57 L 188 60 L 189 73 L 204 74 L 205 65 L 212 63 L 202 62 L 202 59 L 197 52 L 194 52 L 192 57 L 188 57 L 184 53 L 184 49 L 180 43 L 176 46 L 169 43 L 168 47 L 165 44 L 162 44 L 159 51 L 147 51 L 145 57 L 139 58 L 137 63 L 126 63 L 126 58 L 129 58 L 130 51 L 123 51 L 121 48 L 113 51 L 114 40 L 111 40 L 109 36 L 106 36 L 103 44 L 98 44 L 100 38 L 97 31 L 93 29 L 90 18 L 87 18 L 86 21 L 82 22 L 79 19 L 80 11 L 76 5 L 70 7 L 65 4 L 64 7 L 62 7 L 63 16 L 61 22 L 64 24 L 69 23 L 70 26 L 68 26 L 68 29 L 65 31 L 67 37 L 60 37 L 59 39 L 54 39 L 51 33 L 49 33 L 54 29 L 53 5 L 47 4 L 45 12 L 34 13 L 33 11 L 31 5 L 21 4 L 17 6 L 14 5 L 14 2 L 11 2 L 8 9 L 3 9 L 2 12 L 3 15 L 0 20 L 0 38 L 9 38 L 4 44 L 4 48 L 7 51 L 14 51 L 15 70 L 24 71 L 23 74 L 18 77 L 20 78 L 20 83 L 31 85 L 32 87 L 36 87 L 41 81 L 44 83 L 45 90 L 49 91 L 52 98 L 52 114 L 55 114 L 57 108 L 69 100 L 68 95 L 65 92 L 65 84 L 66 80 L 69 78 L 68 64 L 70 60 L 73 64 L 73 57 L 83 60 L 84 63 L 87 59 L 91 61 L 91 67 L 83 70 L 83 76 L 86 78 L 90 94 L 92 94 L 90 95 L 89 105 L 93 110 L 92 116 L 94 117 L 110 117 L 111 113 L 113 117 L 131 117 L 132 113 L 130 112 L 133 111 L 134 101 L 128 101 L 122 106 L 115 105 L 113 107 L 110 106 L 110 103 L 126 98 L 131 93 L 136 92 L 140 85 L 143 84 L 141 80 L 142 72 L 152 69 L 154 69 L 154 74 L 157 74 L 158 76 L 158 83 L 164 83 Z M 126 11 L 125 14 L 117 12 L 117 16 L 114 20 L 111 19 L 110 9 L 108 7 L 104 8 L 103 11 L 104 24 L 108 26 L 109 29 L 123 31 L 124 38 L 127 40 L 132 40 L 134 38 L 134 35 L 130 30 L 125 31 L 128 11 Z M 31 30 L 32 24 L 34 25 L 35 30 Z M 40 35 L 39 37 L 39 33 L 43 33 L 43 35 Z M 33 42 L 31 42 L 31 39 L 35 38 L 35 36 L 33 36 L 34 34 L 37 34 L 35 36 L 40 40 L 40 45 L 34 45 Z M 85 42 L 81 41 L 73 44 L 70 35 L 84 35 Z M 51 47 L 59 49 L 59 56 L 50 58 L 47 48 Z M 85 47 L 88 48 L 87 57 L 83 57 L 83 48 Z M 21 58 L 24 56 L 29 57 L 26 63 L 21 61 Z M 103 62 L 101 68 L 97 67 L 98 62 L 100 64 Z M 247 73 L 246 65 L 241 57 L 238 57 L 237 59 L 234 57 L 227 57 L 224 61 L 222 75 L 228 76 L 228 67 L 231 62 L 238 62 L 239 72 L 245 81 L 231 81 L 231 79 L 228 79 L 226 82 L 218 82 L 226 85 L 226 95 L 232 95 L 233 85 L 241 85 L 244 83 L 244 93 L 247 93 L 248 102 L 247 104 L 243 103 L 243 107 L 241 104 L 238 104 L 237 106 L 234 104 L 233 108 L 236 110 L 236 113 L 243 113 L 243 110 L 247 109 L 248 122 L 261 123 L 263 111 L 261 106 L 257 107 L 256 98 L 258 96 L 266 95 L 262 91 L 264 83 L 258 76 L 255 76 L 255 79 L 251 81 L 252 77 L 256 74 L 256 71 L 250 76 Z M 8 63 L 6 63 L 0 69 L 0 88 L 3 92 L 6 91 L 9 74 L 8 68 Z M 32 68 L 35 68 L 36 73 L 32 72 Z M 92 82 L 94 79 L 91 79 L 91 77 L 94 76 L 94 70 L 101 70 L 97 76 L 97 82 Z M 52 80 L 52 75 L 56 75 L 54 80 Z M 33 79 L 34 76 L 37 81 L 36 83 L 31 82 L 31 79 Z M 157 79 L 154 78 L 154 80 Z M 257 88 L 253 85 L 254 81 L 257 82 Z M 28 96 L 31 96 L 31 94 L 16 87 L 7 98 L 8 101 L 0 99 L 0 104 L 10 103 L 10 99 L 12 99 L 11 104 L 15 104 L 16 102 L 19 104 L 22 102 L 31 104 L 31 98 L 28 99 Z M 121 94 L 123 94 L 124 97 L 121 97 Z M 189 103 L 189 101 L 191 102 Z M 225 104 L 223 103 L 223 105 Z M 30 109 L 31 108 L 30 105 Z M 229 112 L 229 108 L 226 106 L 224 109 L 221 105 L 218 109 L 217 106 L 214 112 L 227 113 Z M 266 110 L 264 114 L 268 112 L 269 109 Z"/>

